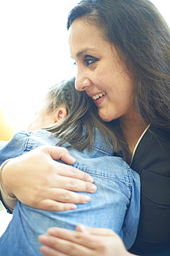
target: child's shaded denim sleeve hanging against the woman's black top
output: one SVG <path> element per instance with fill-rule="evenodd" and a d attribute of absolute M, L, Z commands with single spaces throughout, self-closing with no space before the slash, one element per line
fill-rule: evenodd
<path fill-rule="evenodd" d="M 129 234 L 134 235 L 134 230 L 136 230 L 137 235 L 138 229 L 134 227 L 138 227 L 140 217 L 140 176 L 129 168 L 129 179 L 131 181 L 131 199 L 123 223 L 123 240 L 132 246 L 134 236 L 131 237 Z M 134 213 L 136 214 L 135 217 L 133 217 Z"/>

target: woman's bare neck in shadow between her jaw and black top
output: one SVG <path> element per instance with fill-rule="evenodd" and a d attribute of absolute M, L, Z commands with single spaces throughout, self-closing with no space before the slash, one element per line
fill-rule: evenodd
<path fill-rule="evenodd" d="M 147 125 L 144 124 L 140 116 L 137 113 L 131 114 L 129 117 L 122 117 L 119 119 L 120 127 L 123 132 L 131 155 L 134 152 L 134 148 L 143 131 L 145 131 Z"/>

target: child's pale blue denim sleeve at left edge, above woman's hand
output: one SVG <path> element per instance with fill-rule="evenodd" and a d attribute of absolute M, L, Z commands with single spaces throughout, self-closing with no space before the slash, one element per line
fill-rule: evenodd
<path fill-rule="evenodd" d="M 31 132 L 19 131 L 10 141 L 0 143 L 0 165 L 9 158 L 23 154 L 30 134 Z"/>

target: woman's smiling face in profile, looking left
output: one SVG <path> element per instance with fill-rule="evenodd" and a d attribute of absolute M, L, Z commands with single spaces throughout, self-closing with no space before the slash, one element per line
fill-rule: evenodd
<path fill-rule="evenodd" d="M 131 116 L 134 86 L 114 45 L 83 19 L 76 19 L 69 33 L 70 53 L 77 66 L 76 89 L 92 97 L 105 122 Z"/>

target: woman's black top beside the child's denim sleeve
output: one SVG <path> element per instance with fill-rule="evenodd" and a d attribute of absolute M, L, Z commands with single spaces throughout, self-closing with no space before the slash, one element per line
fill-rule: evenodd
<path fill-rule="evenodd" d="M 131 163 L 140 174 L 141 212 L 138 235 L 129 252 L 170 256 L 170 133 L 149 129 Z"/>

